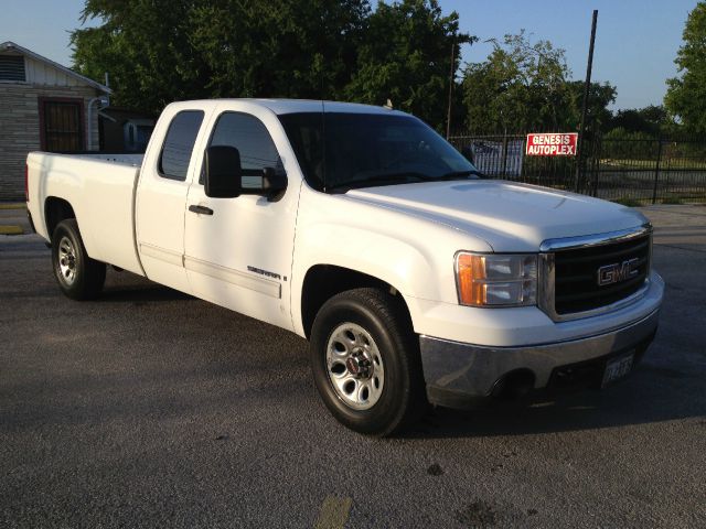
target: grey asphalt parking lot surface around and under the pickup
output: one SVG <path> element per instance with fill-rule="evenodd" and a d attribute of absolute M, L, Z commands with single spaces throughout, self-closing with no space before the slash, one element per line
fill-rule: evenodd
<path fill-rule="evenodd" d="M 293 334 L 125 272 L 71 301 L 0 236 L 0 526 L 706 527 L 706 207 L 644 213 L 667 289 L 630 379 L 392 440 L 329 415 Z"/>

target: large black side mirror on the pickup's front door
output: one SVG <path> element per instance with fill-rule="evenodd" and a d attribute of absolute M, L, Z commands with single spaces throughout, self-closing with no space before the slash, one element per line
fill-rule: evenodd
<path fill-rule="evenodd" d="M 235 198 L 240 195 L 263 195 L 271 202 L 287 190 L 287 175 L 274 168 L 244 170 L 240 152 L 235 147 L 212 145 L 205 156 L 206 196 Z"/>

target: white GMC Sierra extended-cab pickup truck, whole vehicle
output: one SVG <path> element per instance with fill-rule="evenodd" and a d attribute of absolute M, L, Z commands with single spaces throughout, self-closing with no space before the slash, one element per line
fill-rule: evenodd
<path fill-rule="evenodd" d="M 363 105 L 172 104 L 143 156 L 30 153 L 28 209 L 69 298 L 111 264 L 292 331 L 329 410 L 377 435 L 622 378 L 664 291 L 639 212 L 484 180 Z"/>

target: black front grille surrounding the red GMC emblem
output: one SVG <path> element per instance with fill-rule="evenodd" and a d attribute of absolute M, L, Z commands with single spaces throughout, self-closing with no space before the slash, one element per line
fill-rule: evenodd
<path fill-rule="evenodd" d="M 601 267 L 637 259 L 637 274 L 600 285 Z M 555 253 L 554 309 L 557 314 L 590 311 L 623 300 L 640 290 L 650 271 L 650 235 L 627 241 Z"/>

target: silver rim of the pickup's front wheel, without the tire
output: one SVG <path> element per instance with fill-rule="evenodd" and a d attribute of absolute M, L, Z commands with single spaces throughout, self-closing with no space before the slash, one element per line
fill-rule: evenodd
<path fill-rule="evenodd" d="M 342 323 L 331 333 L 327 373 L 336 396 L 354 410 L 371 409 L 383 395 L 383 357 L 371 334 L 355 323 Z"/>

